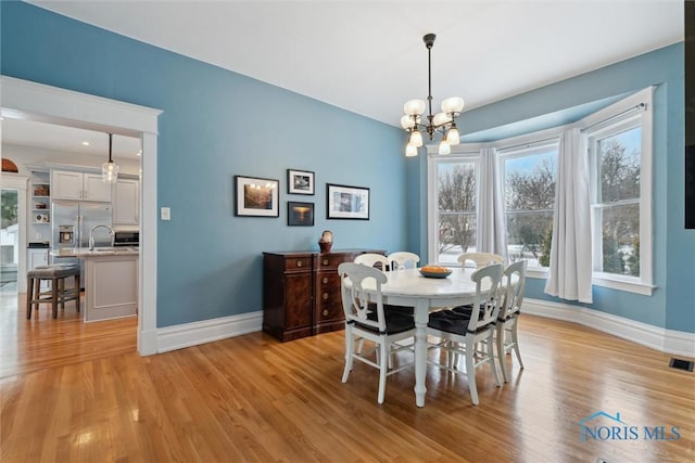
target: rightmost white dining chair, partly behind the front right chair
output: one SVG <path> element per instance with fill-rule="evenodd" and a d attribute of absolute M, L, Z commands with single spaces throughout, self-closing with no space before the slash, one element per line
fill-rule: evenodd
<path fill-rule="evenodd" d="M 502 369 L 504 382 L 509 382 L 509 370 L 506 362 L 506 353 L 514 349 L 519 361 L 519 366 L 523 370 L 521 361 L 521 352 L 519 352 L 519 338 L 517 335 L 517 325 L 519 322 L 519 313 L 521 313 L 521 303 L 523 301 L 523 291 L 526 288 L 526 267 L 527 260 L 517 260 L 507 266 L 504 270 L 503 282 L 504 299 L 500 308 L 496 325 L 496 345 L 497 360 Z"/>

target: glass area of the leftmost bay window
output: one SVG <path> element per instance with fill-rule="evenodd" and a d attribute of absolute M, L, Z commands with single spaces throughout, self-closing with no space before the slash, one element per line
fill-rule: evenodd
<path fill-rule="evenodd" d="M 476 164 L 440 163 L 438 173 L 438 261 L 457 263 L 476 245 Z"/>

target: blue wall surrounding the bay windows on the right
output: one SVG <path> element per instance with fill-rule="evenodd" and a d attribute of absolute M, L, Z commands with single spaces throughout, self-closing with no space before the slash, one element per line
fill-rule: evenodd
<path fill-rule="evenodd" d="M 684 67 L 683 43 L 677 43 L 586 73 L 547 87 L 536 89 L 484 107 L 466 112 L 459 130 L 469 140 L 480 141 L 520 134 L 509 132 L 511 127 L 523 127 L 527 132 L 548 126 L 529 127 L 518 124 L 536 119 L 546 121 L 547 115 L 572 114 L 573 120 L 648 86 L 657 86 L 654 95 L 654 294 L 641 296 L 632 293 L 594 286 L 593 305 L 586 306 L 619 317 L 666 327 L 695 333 L 695 231 L 683 227 L 684 210 Z M 581 111 L 577 111 L 577 110 Z M 567 124 L 572 120 L 561 120 Z M 516 124 L 515 124 L 516 123 Z M 419 184 L 426 195 L 421 176 L 426 165 L 420 160 L 407 162 L 408 182 Z M 427 207 L 420 204 L 420 215 Z M 416 240 L 417 224 L 409 222 L 410 241 Z M 419 230 L 420 233 L 422 230 Z M 419 236 L 421 255 L 426 255 L 426 236 Z M 563 301 L 543 293 L 545 280 L 530 279 L 527 297 Z"/>

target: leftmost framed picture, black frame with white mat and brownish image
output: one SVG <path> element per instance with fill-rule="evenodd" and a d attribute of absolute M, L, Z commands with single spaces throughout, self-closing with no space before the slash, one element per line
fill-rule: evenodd
<path fill-rule="evenodd" d="M 278 190 L 274 179 L 235 176 L 235 215 L 251 217 L 279 217 Z"/>

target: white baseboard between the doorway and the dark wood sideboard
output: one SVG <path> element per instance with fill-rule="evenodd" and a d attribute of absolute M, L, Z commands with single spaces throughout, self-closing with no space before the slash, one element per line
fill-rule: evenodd
<path fill-rule="evenodd" d="M 179 324 L 157 330 L 157 353 L 212 343 L 263 327 L 263 311 L 242 313 L 201 322 Z"/>

